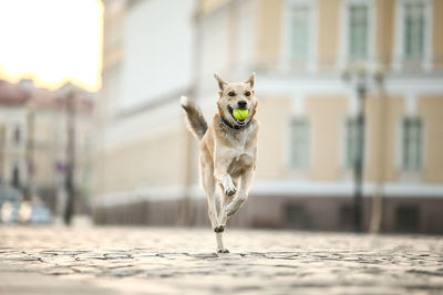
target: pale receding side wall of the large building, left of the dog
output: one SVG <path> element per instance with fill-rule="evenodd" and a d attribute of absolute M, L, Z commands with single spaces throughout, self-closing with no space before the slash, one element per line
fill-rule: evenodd
<path fill-rule="evenodd" d="M 177 200 L 185 193 L 187 176 L 188 135 L 177 106 L 179 95 L 193 88 L 196 2 L 103 3 L 102 91 L 95 108 L 95 218 L 97 222 L 124 219 L 137 223 L 158 223 L 164 218 L 171 224 L 178 214 Z M 171 214 L 146 208 L 165 200 L 172 202 L 164 206 Z M 113 208 L 125 213 L 107 214 Z"/>

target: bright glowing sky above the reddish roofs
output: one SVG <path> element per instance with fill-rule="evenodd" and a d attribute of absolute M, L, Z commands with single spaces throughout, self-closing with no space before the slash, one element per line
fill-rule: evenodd
<path fill-rule="evenodd" d="M 0 78 L 101 87 L 100 0 L 0 0 Z"/>

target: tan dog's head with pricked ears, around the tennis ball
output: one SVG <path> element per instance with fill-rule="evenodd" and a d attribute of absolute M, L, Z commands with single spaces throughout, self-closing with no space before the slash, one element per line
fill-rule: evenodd
<path fill-rule="evenodd" d="M 219 92 L 217 107 L 218 113 L 227 122 L 233 125 L 245 125 L 247 124 L 256 114 L 257 97 L 254 91 L 254 84 L 256 80 L 256 74 L 253 73 L 250 77 L 245 82 L 233 82 L 228 83 L 222 80 L 217 74 L 214 74 L 217 80 Z M 249 115 L 244 120 L 238 120 L 234 117 L 233 110 L 248 109 Z"/>

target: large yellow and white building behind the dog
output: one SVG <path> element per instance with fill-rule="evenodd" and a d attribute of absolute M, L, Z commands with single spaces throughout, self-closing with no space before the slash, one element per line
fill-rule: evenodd
<path fill-rule="evenodd" d="M 382 231 L 443 232 L 442 1 L 104 4 L 97 222 L 208 224 L 178 96 L 209 118 L 213 74 L 238 81 L 254 71 L 259 160 L 231 224 L 351 229 L 363 106 L 364 229 L 379 194 Z M 363 104 L 343 81 L 352 69 L 364 70 Z"/>

